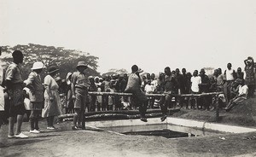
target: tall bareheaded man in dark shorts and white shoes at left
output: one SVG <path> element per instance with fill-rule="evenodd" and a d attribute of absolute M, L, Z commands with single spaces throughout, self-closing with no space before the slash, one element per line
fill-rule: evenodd
<path fill-rule="evenodd" d="M 23 54 L 20 50 L 13 52 L 14 62 L 6 71 L 6 87 L 9 96 L 9 138 L 26 138 L 28 136 L 21 132 L 23 115 L 26 113 L 24 106 L 23 87 L 20 64 L 23 62 Z M 14 131 L 15 117 L 17 117 L 16 131 Z"/>

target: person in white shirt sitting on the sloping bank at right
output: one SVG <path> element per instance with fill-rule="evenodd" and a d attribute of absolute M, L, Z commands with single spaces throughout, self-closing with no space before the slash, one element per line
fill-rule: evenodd
<path fill-rule="evenodd" d="M 247 84 L 244 84 L 244 80 L 239 78 L 236 79 L 236 83 L 239 86 L 239 94 L 230 100 L 229 105 L 227 106 L 227 108 L 225 108 L 227 112 L 229 112 L 230 109 L 234 108 L 236 105 L 241 104 L 241 102 L 247 99 L 247 94 L 248 94 Z"/>

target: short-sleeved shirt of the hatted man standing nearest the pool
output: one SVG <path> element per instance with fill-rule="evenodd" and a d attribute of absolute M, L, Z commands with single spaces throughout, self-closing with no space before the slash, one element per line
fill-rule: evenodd
<path fill-rule="evenodd" d="M 71 82 L 74 84 L 76 88 L 87 88 L 88 81 L 85 78 L 84 73 L 74 72 L 71 78 Z"/>

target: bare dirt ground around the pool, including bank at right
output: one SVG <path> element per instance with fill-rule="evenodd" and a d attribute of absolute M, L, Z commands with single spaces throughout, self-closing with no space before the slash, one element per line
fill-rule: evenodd
<path fill-rule="evenodd" d="M 256 99 L 250 99 L 229 113 L 220 110 L 218 123 L 255 127 Z M 183 119 L 214 121 L 214 111 L 181 109 L 170 115 Z M 30 134 L 29 123 L 22 131 L 27 139 L 8 139 L 8 125 L 0 129 L 0 156 L 256 156 L 256 132 L 217 134 L 207 137 L 165 138 L 121 135 L 86 127 L 72 131 L 70 121 L 46 130 L 41 120 L 40 134 Z"/>

